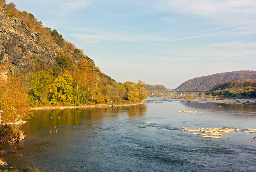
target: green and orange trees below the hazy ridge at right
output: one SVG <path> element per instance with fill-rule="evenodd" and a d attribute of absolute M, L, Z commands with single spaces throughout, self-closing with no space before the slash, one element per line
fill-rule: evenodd
<path fill-rule="evenodd" d="M 256 79 L 247 79 L 243 82 L 236 80 L 220 82 L 212 91 L 215 91 L 215 96 L 256 97 Z"/>

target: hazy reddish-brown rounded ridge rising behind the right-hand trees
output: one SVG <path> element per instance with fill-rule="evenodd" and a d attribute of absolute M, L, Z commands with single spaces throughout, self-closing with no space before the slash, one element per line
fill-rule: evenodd
<path fill-rule="evenodd" d="M 201 76 L 182 83 L 174 90 L 211 90 L 220 82 L 227 82 L 231 80 L 243 82 L 246 79 L 256 79 L 256 71 L 243 70 Z"/>

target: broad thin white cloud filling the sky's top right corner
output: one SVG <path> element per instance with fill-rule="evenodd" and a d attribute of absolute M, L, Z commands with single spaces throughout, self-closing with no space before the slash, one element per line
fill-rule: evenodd
<path fill-rule="evenodd" d="M 196 15 L 211 19 L 208 22 L 236 23 L 255 20 L 255 0 L 158 0 L 149 1 L 148 7 L 158 11 Z"/>

